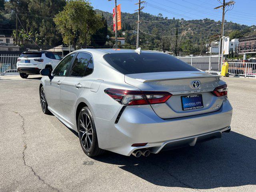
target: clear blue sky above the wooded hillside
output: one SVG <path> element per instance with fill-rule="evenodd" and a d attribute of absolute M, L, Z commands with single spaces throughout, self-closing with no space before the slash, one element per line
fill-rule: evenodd
<path fill-rule="evenodd" d="M 112 12 L 114 0 L 89 0 L 95 9 Z M 222 1 L 222 0 L 221 0 Z M 228 0 L 226 0 L 228 1 Z M 245 25 L 256 25 L 256 0 L 235 0 L 234 8 L 226 13 L 226 20 Z M 117 0 L 121 11 L 134 13 L 138 0 Z M 214 10 L 220 6 L 218 0 L 146 0 L 143 12 L 153 15 L 161 13 L 163 17 L 184 18 L 185 20 L 210 18 L 221 20 L 222 10 Z"/>

